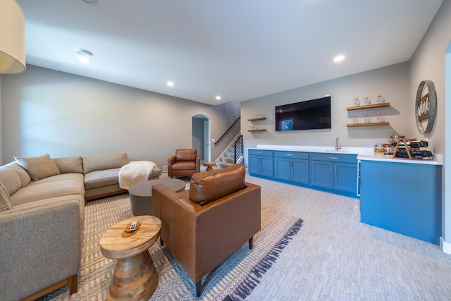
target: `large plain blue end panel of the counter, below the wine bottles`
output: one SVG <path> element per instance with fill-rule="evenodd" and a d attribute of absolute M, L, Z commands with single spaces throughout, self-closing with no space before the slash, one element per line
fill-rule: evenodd
<path fill-rule="evenodd" d="M 361 161 L 360 221 L 440 245 L 442 166 Z"/>

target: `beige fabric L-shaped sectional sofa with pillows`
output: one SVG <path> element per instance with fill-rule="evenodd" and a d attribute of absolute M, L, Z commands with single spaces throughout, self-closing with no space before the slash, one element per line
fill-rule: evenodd
<path fill-rule="evenodd" d="M 87 199 L 125 192 L 127 154 L 16 157 L 0 166 L 1 300 L 77 291 Z M 159 178 L 155 167 L 149 179 Z M 8 204 L 9 202 L 9 204 Z"/>

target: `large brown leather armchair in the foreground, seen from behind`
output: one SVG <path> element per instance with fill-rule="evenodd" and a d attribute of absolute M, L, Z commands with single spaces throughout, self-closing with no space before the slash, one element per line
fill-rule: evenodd
<path fill-rule="evenodd" d="M 242 165 L 195 173 L 190 190 L 152 188 L 152 214 L 166 243 L 201 295 L 202 277 L 260 231 L 261 188 L 245 182 Z"/>

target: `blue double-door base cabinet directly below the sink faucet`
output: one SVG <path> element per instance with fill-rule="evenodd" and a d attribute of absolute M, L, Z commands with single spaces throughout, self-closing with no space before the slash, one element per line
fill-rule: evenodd
<path fill-rule="evenodd" d="M 357 155 L 314 153 L 310 159 L 310 185 L 357 196 Z"/>

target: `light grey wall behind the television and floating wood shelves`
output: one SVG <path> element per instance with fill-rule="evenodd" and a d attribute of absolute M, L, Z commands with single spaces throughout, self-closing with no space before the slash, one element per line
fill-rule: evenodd
<path fill-rule="evenodd" d="M 381 93 L 386 102 L 390 102 L 387 108 L 347 111 L 348 106 L 354 106 L 354 97 L 363 100 L 369 95 L 375 103 L 375 95 Z M 330 130 L 297 130 L 292 132 L 276 132 L 274 125 L 274 106 L 302 102 L 309 99 L 323 97 L 330 94 L 332 109 L 332 128 Z M 241 128 L 245 142 L 245 148 L 257 145 L 335 145 L 335 137 L 340 137 L 343 147 L 373 147 L 378 142 L 388 142 L 390 135 L 400 134 L 410 137 L 412 128 L 409 118 L 409 64 L 400 63 L 385 68 L 371 70 L 356 75 L 350 75 L 336 80 L 328 80 L 307 87 L 280 92 L 277 94 L 259 97 L 241 104 Z M 352 114 L 362 121 L 363 113 L 370 116 L 379 111 L 385 116 L 385 121 L 390 125 L 348 128 L 347 123 L 352 123 Z M 257 113 L 263 113 L 266 121 L 247 121 L 255 118 Z M 249 133 L 251 125 L 266 128 L 266 132 Z M 247 149 L 245 150 L 247 158 Z M 247 160 L 246 160 L 247 162 Z"/>

